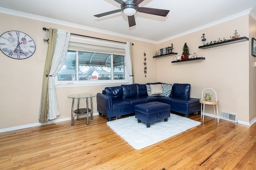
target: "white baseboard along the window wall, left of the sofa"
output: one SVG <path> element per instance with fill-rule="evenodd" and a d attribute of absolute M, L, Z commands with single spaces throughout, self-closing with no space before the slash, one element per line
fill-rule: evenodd
<path fill-rule="evenodd" d="M 99 115 L 99 113 L 93 113 L 93 115 Z M 85 115 L 80 115 L 80 118 L 85 117 Z M 75 117 L 76 119 L 76 117 Z M 28 127 L 35 127 L 35 126 L 41 126 L 41 125 L 47 125 L 47 124 L 51 124 L 51 123 L 57 123 L 57 122 L 62 122 L 62 121 L 71 121 L 71 117 L 66 117 L 66 118 L 62 118 L 62 119 L 56 119 L 56 120 L 51 120 L 45 123 L 32 123 L 32 124 L 28 124 L 28 125 L 21 125 L 21 126 L 15 126 L 15 127 L 8 127 L 8 128 L 4 128 L 4 129 L 0 129 L 0 133 L 1 132 L 7 132 L 7 131 L 14 131 L 14 130 L 18 130 L 18 129 L 24 129 L 24 128 L 28 128 Z"/>

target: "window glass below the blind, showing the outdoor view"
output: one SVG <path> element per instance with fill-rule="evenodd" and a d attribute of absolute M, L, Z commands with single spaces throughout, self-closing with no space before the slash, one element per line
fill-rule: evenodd
<path fill-rule="evenodd" d="M 69 50 L 58 81 L 124 80 L 124 57 Z"/>

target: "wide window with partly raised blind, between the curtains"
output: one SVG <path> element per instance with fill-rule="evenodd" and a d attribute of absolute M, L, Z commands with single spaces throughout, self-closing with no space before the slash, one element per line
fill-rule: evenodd
<path fill-rule="evenodd" d="M 76 40 L 69 43 L 57 84 L 102 85 L 127 82 L 124 45 L 99 46 Z M 97 42 L 98 43 L 98 42 Z M 111 46 L 111 47 L 109 47 Z"/>

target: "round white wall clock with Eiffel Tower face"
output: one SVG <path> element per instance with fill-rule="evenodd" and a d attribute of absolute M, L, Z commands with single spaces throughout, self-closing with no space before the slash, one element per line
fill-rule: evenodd
<path fill-rule="evenodd" d="M 26 59 L 36 50 L 34 40 L 21 31 L 7 31 L 0 36 L 0 50 L 13 59 Z"/>

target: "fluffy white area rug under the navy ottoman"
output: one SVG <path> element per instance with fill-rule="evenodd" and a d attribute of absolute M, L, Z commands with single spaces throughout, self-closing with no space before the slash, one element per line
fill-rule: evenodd
<path fill-rule="evenodd" d="M 168 121 L 161 120 L 150 123 L 148 128 L 146 123 L 138 123 L 135 116 L 107 122 L 107 125 L 134 149 L 148 147 L 200 124 L 199 121 L 172 113 L 170 113 Z"/>

